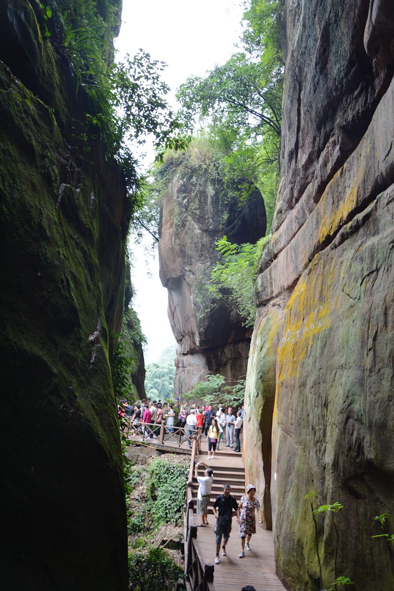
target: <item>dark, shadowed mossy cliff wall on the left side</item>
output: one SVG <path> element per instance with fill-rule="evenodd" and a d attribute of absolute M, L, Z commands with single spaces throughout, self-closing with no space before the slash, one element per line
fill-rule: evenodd
<path fill-rule="evenodd" d="M 129 204 L 103 147 L 88 154 L 72 136 L 89 99 L 77 96 L 56 31 L 43 32 L 38 2 L 1 3 L 1 580 L 121 591 L 109 348 L 122 322 Z"/>

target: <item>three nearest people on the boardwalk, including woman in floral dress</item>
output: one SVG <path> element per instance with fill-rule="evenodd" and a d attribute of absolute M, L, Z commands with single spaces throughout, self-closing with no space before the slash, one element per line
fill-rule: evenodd
<path fill-rule="evenodd" d="M 198 476 L 198 468 L 204 467 L 204 476 Z M 208 505 L 210 501 L 210 492 L 213 483 L 213 469 L 204 462 L 198 462 L 194 466 L 194 476 L 199 484 L 197 491 L 197 513 L 201 515 L 201 523 L 198 527 L 207 527 Z M 237 502 L 235 496 L 231 494 L 231 486 L 224 484 L 223 493 L 216 497 L 213 504 L 213 514 L 215 518 L 214 534 L 216 536 L 216 556 L 215 564 L 220 563 L 220 546 L 222 545 L 222 556 L 227 556 L 226 545 L 229 541 L 232 530 L 233 511 L 239 524 L 239 537 L 241 538 L 241 551 L 239 558 L 245 557 L 245 550 L 251 550 L 250 538 L 256 533 L 257 510 L 259 523 L 262 523 L 261 508 L 256 498 L 256 487 L 249 484 L 246 488 L 246 495 L 242 495 Z M 222 544 L 223 541 L 223 544 Z"/>

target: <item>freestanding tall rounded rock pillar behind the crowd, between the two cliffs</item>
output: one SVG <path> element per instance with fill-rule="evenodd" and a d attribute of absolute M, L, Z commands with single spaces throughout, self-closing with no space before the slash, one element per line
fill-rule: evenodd
<path fill-rule="evenodd" d="M 178 342 L 175 395 L 190 390 L 208 372 L 238 379 L 246 375 L 250 330 L 224 306 L 206 310 L 204 285 L 217 261 L 215 242 L 225 234 L 236 243 L 265 233 L 261 194 L 253 191 L 242 208 L 226 194 L 213 155 L 192 145 L 165 164 L 159 240 L 160 277 L 168 290 L 168 316 Z"/>

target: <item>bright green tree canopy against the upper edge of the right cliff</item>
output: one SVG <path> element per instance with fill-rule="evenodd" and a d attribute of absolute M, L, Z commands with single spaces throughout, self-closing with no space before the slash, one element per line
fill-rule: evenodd
<path fill-rule="evenodd" d="M 242 175 L 262 191 L 268 228 L 279 182 L 282 4 L 246 0 L 240 50 L 205 77 L 189 77 L 177 93 L 184 128 L 209 139 L 229 177 Z"/>

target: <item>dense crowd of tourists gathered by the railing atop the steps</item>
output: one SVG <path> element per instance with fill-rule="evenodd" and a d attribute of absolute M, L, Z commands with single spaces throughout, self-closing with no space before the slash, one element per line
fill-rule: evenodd
<path fill-rule="evenodd" d="M 141 431 L 145 437 L 155 439 L 159 436 L 162 424 L 167 431 L 174 433 L 174 427 L 182 427 L 187 434 L 187 443 L 191 447 L 193 435 L 201 429 L 208 441 L 208 459 L 215 459 L 220 445 L 235 448 L 240 453 L 240 431 L 243 423 L 243 407 L 235 413 L 232 407 L 225 407 L 219 402 L 213 405 L 197 405 L 185 402 L 183 405 L 161 402 L 161 400 L 142 400 L 129 404 L 123 401 L 118 407 L 121 429 L 129 428 L 129 434 L 135 436 Z M 224 441 L 226 443 L 224 443 Z M 235 443 L 235 446 L 234 446 Z"/>

